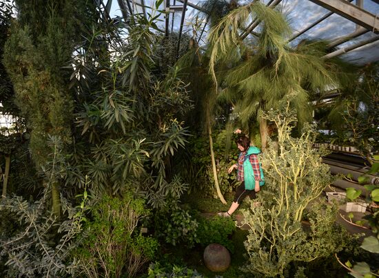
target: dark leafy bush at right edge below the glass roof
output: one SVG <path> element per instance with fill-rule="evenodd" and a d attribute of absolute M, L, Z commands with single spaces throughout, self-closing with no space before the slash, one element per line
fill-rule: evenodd
<path fill-rule="evenodd" d="M 379 151 L 378 72 L 379 63 L 360 68 L 352 79 L 354 83 L 341 90 L 328 116 L 342 141 L 348 139 L 370 163 Z"/>

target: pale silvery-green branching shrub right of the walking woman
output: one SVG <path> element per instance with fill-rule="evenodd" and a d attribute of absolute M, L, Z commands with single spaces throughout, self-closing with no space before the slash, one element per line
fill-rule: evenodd
<path fill-rule="evenodd" d="M 282 110 L 265 115 L 278 126 L 279 148 L 269 148 L 262 160 L 267 188 L 260 192 L 261 206 L 243 212 L 250 228 L 245 270 L 268 277 L 283 277 L 291 262 L 342 250 L 346 236 L 334 226 L 336 208 L 318 200 L 331 175 L 321 161 L 322 152 L 312 148 L 314 130 L 305 126 L 299 138 L 291 137 L 296 117 L 289 103 L 284 104 Z M 302 220 L 308 209 L 307 231 Z"/>

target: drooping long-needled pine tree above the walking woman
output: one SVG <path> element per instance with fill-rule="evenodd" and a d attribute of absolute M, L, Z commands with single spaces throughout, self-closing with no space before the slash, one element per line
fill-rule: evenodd
<path fill-rule="evenodd" d="M 260 33 L 254 38 L 247 36 L 252 18 L 260 22 Z M 309 92 L 337 86 L 334 65 L 320 59 L 320 43 L 291 48 L 289 31 L 280 12 L 253 1 L 227 14 L 209 34 L 209 72 L 243 126 L 258 117 L 263 149 L 268 131 L 262 112 L 276 108 L 286 95 L 296 95 L 291 105 L 299 121 L 305 121 L 310 117 Z"/>

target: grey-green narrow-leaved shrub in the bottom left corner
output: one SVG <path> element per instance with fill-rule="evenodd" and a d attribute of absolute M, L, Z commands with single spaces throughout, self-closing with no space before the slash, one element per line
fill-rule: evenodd
<path fill-rule="evenodd" d="M 72 274 L 75 261 L 70 252 L 81 233 L 83 212 L 88 201 L 73 208 L 61 198 L 62 212 L 68 217 L 60 221 L 49 213 L 50 190 L 45 188 L 39 201 L 30 203 L 21 197 L 3 199 L 0 212 L 9 211 L 17 218 L 19 230 L 12 237 L 0 239 L 0 256 L 6 260 L 7 277 L 59 277 Z"/>

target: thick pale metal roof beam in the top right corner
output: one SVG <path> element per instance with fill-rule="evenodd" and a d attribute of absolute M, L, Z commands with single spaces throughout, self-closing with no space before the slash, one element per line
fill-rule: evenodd
<path fill-rule="evenodd" d="M 331 12 L 339 14 L 341 17 L 345 17 L 350 21 L 359 24 L 369 30 L 373 30 L 376 34 L 379 34 L 379 20 L 375 14 L 367 12 L 349 2 L 342 0 L 309 0 L 319 6 L 322 6 Z"/>

